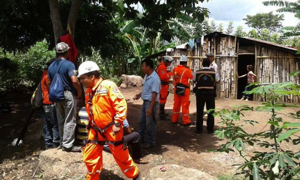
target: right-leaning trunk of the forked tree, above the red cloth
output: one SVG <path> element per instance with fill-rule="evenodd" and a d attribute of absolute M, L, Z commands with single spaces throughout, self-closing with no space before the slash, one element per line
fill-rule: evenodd
<path fill-rule="evenodd" d="M 72 6 L 68 17 L 67 25 L 68 24 L 70 25 L 70 31 L 72 33 L 73 39 L 74 39 L 75 24 L 76 24 L 77 15 L 79 13 L 80 4 L 81 4 L 81 0 L 72 1 Z"/>

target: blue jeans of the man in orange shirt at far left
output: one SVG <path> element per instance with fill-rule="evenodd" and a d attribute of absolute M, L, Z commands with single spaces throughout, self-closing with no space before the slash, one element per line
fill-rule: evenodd
<path fill-rule="evenodd" d="M 56 109 L 54 104 L 44 104 L 44 139 L 46 148 L 59 146 L 59 131 L 56 117 Z M 53 133 L 52 133 L 53 129 Z"/>

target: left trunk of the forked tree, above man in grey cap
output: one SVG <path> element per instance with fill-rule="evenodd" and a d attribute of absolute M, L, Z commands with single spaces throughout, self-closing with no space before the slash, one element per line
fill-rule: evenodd
<path fill-rule="evenodd" d="M 58 37 L 65 34 L 59 13 L 58 0 L 49 0 L 49 7 L 54 32 L 54 44 L 56 44 Z"/>

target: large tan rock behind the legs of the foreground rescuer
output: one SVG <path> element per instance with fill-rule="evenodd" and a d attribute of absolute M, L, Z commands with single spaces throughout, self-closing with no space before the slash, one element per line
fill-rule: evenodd
<path fill-rule="evenodd" d="M 103 173 L 101 177 L 122 177 L 122 171 L 116 164 L 113 156 L 103 151 Z M 48 149 L 41 153 L 39 167 L 43 171 L 43 179 L 73 179 L 74 177 L 85 177 L 87 169 L 82 161 L 82 153 L 63 152 L 61 149 Z"/>

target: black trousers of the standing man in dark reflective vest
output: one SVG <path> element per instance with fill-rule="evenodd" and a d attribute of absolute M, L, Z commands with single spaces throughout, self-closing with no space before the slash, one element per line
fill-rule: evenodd
<path fill-rule="evenodd" d="M 204 105 L 206 104 L 206 110 L 214 109 L 215 102 L 214 102 L 214 95 L 199 95 L 196 96 L 196 106 L 197 106 L 197 123 L 196 123 L 196 130 L 202 131 L 203 127 L 203 110 Z M 207 130 L 214 129 L 214 116 L 212 115 L 214 111 L 211 111 L 207 116 Z"/>

